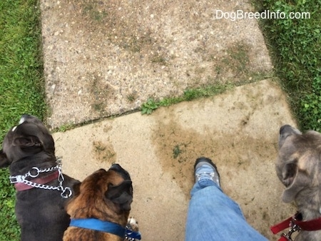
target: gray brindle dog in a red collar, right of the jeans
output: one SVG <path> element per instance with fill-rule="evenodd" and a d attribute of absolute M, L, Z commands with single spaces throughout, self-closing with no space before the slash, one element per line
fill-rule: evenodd
<path fill-rule="evenodd" d="M 295 201 L 303 221 L 321 217 L 321 134 L 283 125 L 276 171 L 286 187 L 282 200 Z M 302 230 L 295 240 L 321 240 L 321 230 Z"/>

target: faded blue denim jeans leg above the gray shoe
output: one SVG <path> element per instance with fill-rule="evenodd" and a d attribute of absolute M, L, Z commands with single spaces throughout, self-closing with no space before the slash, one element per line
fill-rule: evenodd
<path fill-rule="evenodd" d="M 246 222 L 239 205 L 211 180 L 200 180 L 190 192 L 185 241 L 267 240 Z"/>

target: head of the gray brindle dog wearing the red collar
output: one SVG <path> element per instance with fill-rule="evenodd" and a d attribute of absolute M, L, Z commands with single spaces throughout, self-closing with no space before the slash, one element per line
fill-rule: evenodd
<path fill-rule="evenodd" d="M 284 202 L 300 202 L 300 199 L 307 198 L 312 202 L 312 196 L 318 195 L 321 184 L 320 155 L 320 133 L 310 130 L 302 134 L 290 125 L 280 128 L 276 171 L 286 187 L 282 195 Z"/>

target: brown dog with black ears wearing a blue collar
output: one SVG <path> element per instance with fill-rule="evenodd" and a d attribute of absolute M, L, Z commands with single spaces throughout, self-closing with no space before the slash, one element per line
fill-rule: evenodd
<path fill-rule="evenodd" d="M 78 186 L 66 207 L 71 226 L 63 240 L 123 240 L 133 200 L 128 172 L 121 165 L 113 164 L 107 171 L 100 169 L 89 175 Z M 120 228 L 123 233 L 117 235 L 106 230 L 108 225 L 116 225 L 111 230 Z"/>

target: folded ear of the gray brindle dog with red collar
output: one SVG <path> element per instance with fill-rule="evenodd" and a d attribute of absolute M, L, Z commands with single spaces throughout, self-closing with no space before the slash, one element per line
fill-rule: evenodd
<path fill-rule="evenodd" d="M 303 188 L 310 184 L 307 173 L 300 170 L 296 163 L 287 163 L 282 170 L 282 183 L 287 187 L 282 195 L 283 202 L 292 202 Z"/>

